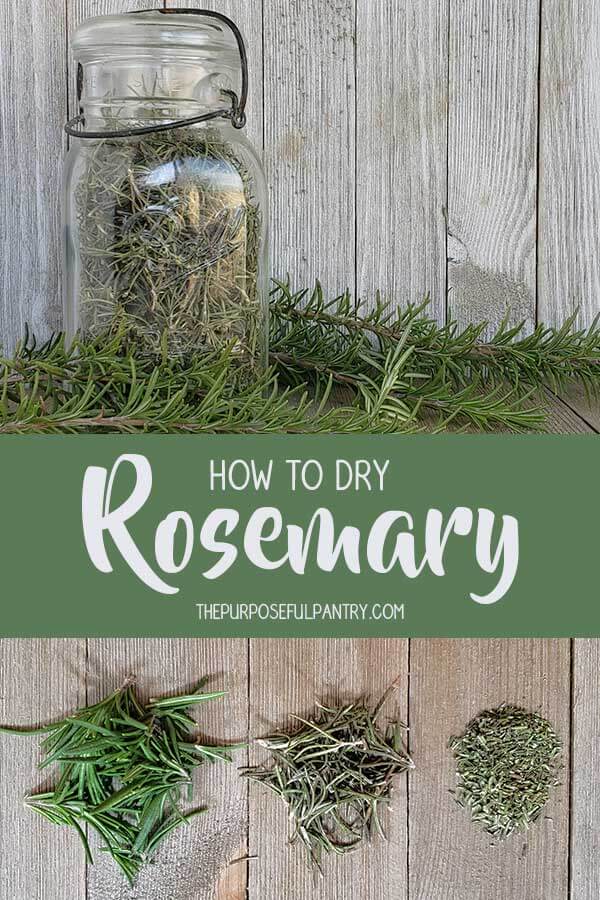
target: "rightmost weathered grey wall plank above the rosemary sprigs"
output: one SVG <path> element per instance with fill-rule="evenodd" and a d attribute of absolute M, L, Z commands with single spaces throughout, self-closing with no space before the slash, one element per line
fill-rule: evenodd
<path fill-rule="evenodd" d="M 600 5 L 542 4 L 539 316 L 600 310 Z"/>

